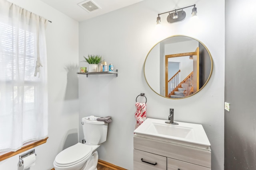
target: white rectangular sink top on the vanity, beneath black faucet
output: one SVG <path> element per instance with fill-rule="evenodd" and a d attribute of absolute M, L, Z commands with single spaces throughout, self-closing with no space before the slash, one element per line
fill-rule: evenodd
<path fill-rule="evenodd" d="M 147 118 L 135 131 L 135 135 L 169 141 L 199 148 L 210 147 L 204 128 L 200 124 L 178 122 L 178 125 L 165 123 L 166 120 Z"/>

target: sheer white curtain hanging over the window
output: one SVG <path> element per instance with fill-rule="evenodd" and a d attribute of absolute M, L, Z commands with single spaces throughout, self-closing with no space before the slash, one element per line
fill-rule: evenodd
<path fill-rule="evenodd" d="M 47 22 L 0 0 L 0 152 L 48 135 Z"/>

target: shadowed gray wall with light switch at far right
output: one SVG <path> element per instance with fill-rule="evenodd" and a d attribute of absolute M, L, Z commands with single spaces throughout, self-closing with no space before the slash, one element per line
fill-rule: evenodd
<path fill-rule="evenodd" d="M 255 0 L 225 1 L 225 170 L 256 169 L 255 6 Z"/>

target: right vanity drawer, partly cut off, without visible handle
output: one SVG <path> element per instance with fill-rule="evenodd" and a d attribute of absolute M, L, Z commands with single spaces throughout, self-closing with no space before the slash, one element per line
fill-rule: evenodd
<path fill-rule="evenodd" d="M 211 170 L 204 166 L 183 162 L 180 160 L 167 158 L 167 170 Z"/>

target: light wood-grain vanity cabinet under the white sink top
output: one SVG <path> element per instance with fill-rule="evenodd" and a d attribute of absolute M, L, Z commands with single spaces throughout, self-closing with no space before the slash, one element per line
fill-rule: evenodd
<path fill-rule="evenodd" d="M 134 170 L 211 170 L 210 147 L 134 135 Z"/>

